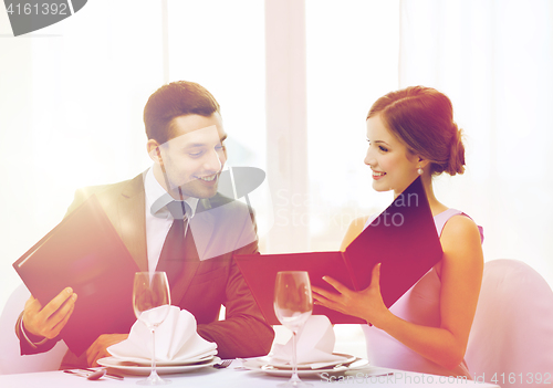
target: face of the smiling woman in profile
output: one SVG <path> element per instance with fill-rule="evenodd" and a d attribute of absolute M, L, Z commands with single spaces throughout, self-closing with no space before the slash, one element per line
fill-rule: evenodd
<path fill-rule="evenodd" d="M 418 176 L 418 156 L 384 126 L 380 115 L 367 119 L 367 141 L 365 165 L 373 170 L 373 188 L 400 195 Z"/>

